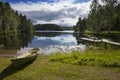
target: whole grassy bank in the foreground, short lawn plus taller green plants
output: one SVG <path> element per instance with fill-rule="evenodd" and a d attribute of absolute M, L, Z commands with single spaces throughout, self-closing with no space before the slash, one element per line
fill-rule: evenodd
<path fill-rule="evenodd" d="M 120 79 L 120 67 L 118 64 L 117 67 L 111 67 L 111 65 L 107 65 L 106 67 L 106 65 L 102 65 L 103 58 L 106 58 L 106 60 L 109 58 L 110 61 L 113 61 L 111 58 L 119 60 L 118 58 L 120 57 L 118 55 L 120 51 L 111 51 L 111 55 L 104 52 L 89 50 L 82 54 L 74 51 L 69 54 L 56 53 L 50 56 L 39 56 L 34 62 L 23 66 L 21 69 L 14 69 L 10 65 L 10 58 L 0 57 L 0 80 Z M 78 60 L 82 60 L 82 64 Z"/>

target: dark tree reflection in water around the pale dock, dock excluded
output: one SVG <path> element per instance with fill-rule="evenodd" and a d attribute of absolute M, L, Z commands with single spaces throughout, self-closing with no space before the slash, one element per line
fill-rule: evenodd
<path fill-rule="evenodd" d="M 76 37 L 77 40 L 77 44 L 84 44 L 87 46 L 87 48 L 94 48 L 94 49 L 120 49 L 119 45 L 114 45 L 114 44 L 110 44 L 110 43 L 106 43 L 106 42 L 102 42 L 103 38 L 109 39 L 111 41 L 119 41 L 118 36 L 116 37 L 103 37 L 103 36 L 94 36 L 94 38 L 97 38 L 98 40 L 101 40 L 101 42 L 94 42 L 94 41 L 90 41 L 90 40 L 83 40 L 82 38 L 90 38 L 89 36 L 85 36 L 83 34 L 80 33 L 75 33 L 74 36 Z M 93 39 L 94 40 L 94 39 Z"/>

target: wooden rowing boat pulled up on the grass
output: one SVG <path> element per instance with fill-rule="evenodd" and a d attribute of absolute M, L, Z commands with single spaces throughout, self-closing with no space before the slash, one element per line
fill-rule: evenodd
<path fill-rule="evenodd" d="M 32 62 L 37 58 L 37 52 L 39 51 L 38 48 L 34 48 L 26 53 L 23 53 L 20 56 L 17 56 L 16 58 L 11 59 L 12 65 L 15 68 L 19 68 L 24 66 L 25 64 Z"/>

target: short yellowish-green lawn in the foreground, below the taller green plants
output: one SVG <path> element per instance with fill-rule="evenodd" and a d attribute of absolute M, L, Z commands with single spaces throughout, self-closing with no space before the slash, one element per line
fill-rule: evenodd
<path fill-rule="evenodd" d="M 38 58 L 21 69 L 10 66 L 10 58 L 0 57 L 0 79 L 4 80 L 118 80 L 119 67 L 72 65 L 52 62 L 48 56 Z M 1 65 L 2 64 L 2 65 Z M 112 76 L 111 76 L 112 75 Z"/>

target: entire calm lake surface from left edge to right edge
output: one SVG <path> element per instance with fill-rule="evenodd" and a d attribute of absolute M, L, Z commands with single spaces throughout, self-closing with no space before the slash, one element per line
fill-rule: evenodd
<path fill-rule="evenodd" d="M 86 48 L 120 49 L 119 38 L 118 40 L 116 38 L 96 39 L 96 37 L 74 34 L 74 31 L 36 31 L 34 36 L 27 33 L 0 35 L 0 56 L 16 56 L 36 47 L 40 48 L 39 54 L 84 51 Z"/>

